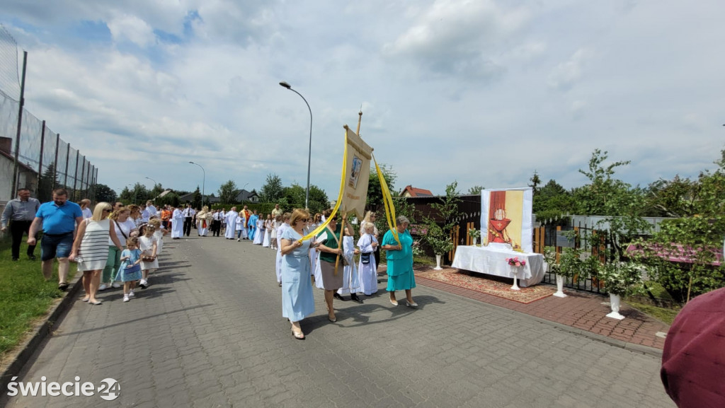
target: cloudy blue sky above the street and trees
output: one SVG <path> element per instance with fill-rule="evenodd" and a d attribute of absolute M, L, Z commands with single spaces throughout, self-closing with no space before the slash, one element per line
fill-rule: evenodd
<path fill-rule="evenodd" d="M 25 108 L 120 191 L 339 190 L 343 125 L 407 185 L 646 186 L 725 148 L 721 0 L 3 0 Z M 191 165 L 193 161 L 202 169 Z"/>

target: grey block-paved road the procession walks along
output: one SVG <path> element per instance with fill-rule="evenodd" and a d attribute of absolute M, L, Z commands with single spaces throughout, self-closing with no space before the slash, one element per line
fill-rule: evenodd
<path fill-rule="evenodd" d="M 420 307 L 336 301 L 295 340 L 274 251 L 224 238 L 167 241 L 127 304 L 76 302 L 20 380 L 118 380 L 120 396 L 27 396 L 8 407 L 674 407 L 655 357 L 418 286 Z M 384 278 L 381 288 L 384 288 Z M 79 298 L 80 299 L 80 298 Z M 4 390 L 3 394 L 7 391 Z"/>

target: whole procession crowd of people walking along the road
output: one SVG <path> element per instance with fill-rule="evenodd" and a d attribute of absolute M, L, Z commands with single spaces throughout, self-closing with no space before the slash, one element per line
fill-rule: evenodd
<path fill-rule="evenodd" d="M 58 261 L 58 288 L 68 287 L 70 262 L 83 272 L 83 301 L 99 305 L 99 291 L 120 288 L 123 301 L 136 296 L 137 287 L 149 286 L 149 276 L 159 268 L 164 237 L 181 239 L 196 235 L 224 236 L 237 242 L 254 244 L 277 251 L 276 282 L 281 289 L 282 315 L 292 325 L 295 338 L 305 338 L 299 322 L 315 311 L 312 285 L 324 291 L 328 319 L 336 322 L 334 299 L 363 303 L 358 294 L 370 296 L 378 291 L 380 249 L 386 250 L 390 302 L 397 306 L 395 291 L 405 290 L 405 304 L 417 307 L 411 295 L 415 288 L 413 275 L 413 246 L 417 245 L 407 231 L 408 220 L 399 217 L 397 230 L 385 233 L 379 242 L 376 214 L 368 212 L 362 222 L 357 241 L 355 228 L 347 220 L 333 217 L 326 228 L 311 232 L 332 215 L 328 209 L 311 217 L 305 209 L 283 212 L 279 205 L 268 215 L 258 215 L 245 205 L 210 210 L 191 204 L 162 208 L 153 201 L 145 204 L 99 202 L 91 207 L 89 199 L 78 204 L 68 201 L 63 188 L 53 191 L 52 201 L 41 204 L 30 197 L 27 188 L 17 191 L 17 199 L 8 202 L 2 214 L 2 231 L 8 226 L 12 234 L 12 259 L 20 258 L 20 243 L 27 234 L 28 258 L 36 259 L 36 241 L 42 231 L 41 269 L 50 280 L 54 259 Z M 92 208 L 92 209 L 91 209 Z M 357 255 L 360 255 L 357 257 Z"/>

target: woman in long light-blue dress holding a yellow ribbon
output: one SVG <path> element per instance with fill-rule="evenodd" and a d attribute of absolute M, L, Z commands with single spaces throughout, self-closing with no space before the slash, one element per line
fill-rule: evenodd
<path fill-rule="evenodd" d="M 310 214 L 304 209 L 294 209 L 289 218 L 289 228 L 281 236 L 282 254 L 282 316 L 292 323 L 292 336 L 303 340 L 305 334 L 299 321 L 315 312 L 315 298 L 312 296 L 310 280 L 310 244 L 305 236 L 305 227 Z"/>

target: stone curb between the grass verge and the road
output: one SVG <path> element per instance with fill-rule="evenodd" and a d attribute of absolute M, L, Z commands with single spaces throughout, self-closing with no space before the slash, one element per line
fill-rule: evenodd
<path fill-rule="evenodd" d="M 3 370 L 0 374 L 0 394 L 4 394 L 4 391 L 7 389 L 7 385 L 11 382 L 12 377 L 14 375 L 18 375 L 18 373 L 22 370 L 22 367 L 25 366 L 25 363 L 27 363 L 28 360 L 30 360 L 30 357 L 33 356 L 33 353 L 36 352 L 38 346 L 40 346 L 43 341 L 50 336 L 55 323 L 73 304 L 76 295 L 78 295 L 80 289 L 83 288 L 80 278 L 83 278 L 83 272 L 76 272 L 75 278 L 73 278 L 70 286 L 68 286 L 68 289 L 65 292 L 65 296 L 63 296 L 59 302 L 51 306 L 50 311 L 43 320 L 36 323 L 35 328 L 33 328 L 34 333 L 20 344 L 20 352 L 17 352 L 12 362 L 10 362 L 7 368 L 5 368 L 5 370 Z"/>

